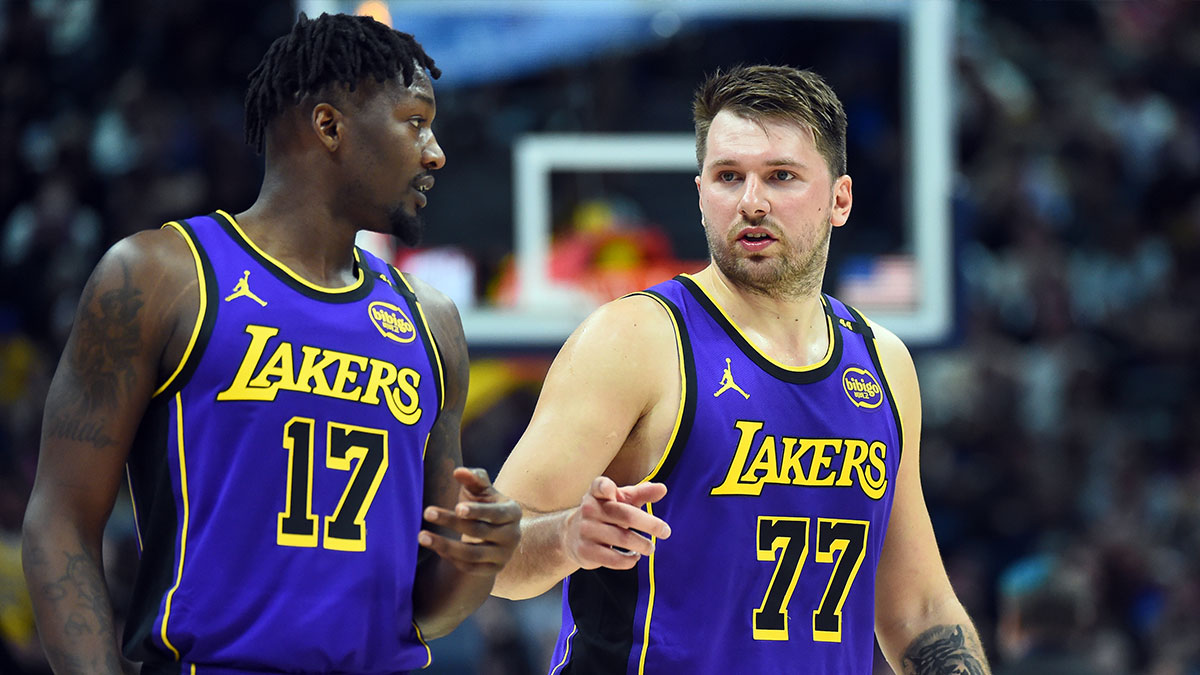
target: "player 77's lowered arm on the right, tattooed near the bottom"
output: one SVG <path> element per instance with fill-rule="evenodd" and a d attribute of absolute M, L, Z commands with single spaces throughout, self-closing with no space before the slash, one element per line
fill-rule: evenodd
<path fill-rule="evenodd" d="M 895 501 L 875 583 L 875 632 L 896 673 L 986 675 L 990 670 L 979 635 L 946 575 L 920 488 L 917 371 L 895 335 L 878 325 L 875 331 L 904 423 Z"/>

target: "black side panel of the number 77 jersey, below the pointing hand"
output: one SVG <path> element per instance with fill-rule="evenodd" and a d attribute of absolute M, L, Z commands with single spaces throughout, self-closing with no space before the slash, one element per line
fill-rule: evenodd
<path fill-rule="evenodd" d="M 571 574 L 566 602 L 575 619 L 574 647 L 562 675 L 626 673 L 634 650 L 638 568 L 580 569 Z"/>

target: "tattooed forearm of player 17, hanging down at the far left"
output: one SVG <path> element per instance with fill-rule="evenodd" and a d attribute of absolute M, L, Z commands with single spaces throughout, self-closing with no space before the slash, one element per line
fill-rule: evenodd
<path fill-rule="evenodd" d="M 26 525 L 22 542 L 25 580 L 42 647 L 59 675 L 122 671 L 100 560 L 100 545 Z"/>

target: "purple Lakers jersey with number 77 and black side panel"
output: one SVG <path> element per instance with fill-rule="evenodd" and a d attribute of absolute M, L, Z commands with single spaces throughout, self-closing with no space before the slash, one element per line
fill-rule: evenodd
<path fill-rule="evenodd" d="M 822 297 L 829 348 L 784 366 L 691 277 L 643 292 L 677 330 L 682 401 L 647 480 L 671 538 L 563 589 L 553 675 L 870 674 L 900 422 L 865 319 Z"/>

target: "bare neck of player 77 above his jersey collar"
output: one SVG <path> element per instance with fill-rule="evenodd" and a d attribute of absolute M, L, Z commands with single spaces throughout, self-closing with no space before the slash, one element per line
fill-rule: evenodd
<path fill-rule="evenodd" d="M 812 365 L 829 350 L 820 291 L 775 297 L 738 286 L 715 264 L 692 276 L 761 352 L 793 366 Z M 820 286 L 818 286 L 820 288 Z"/>

